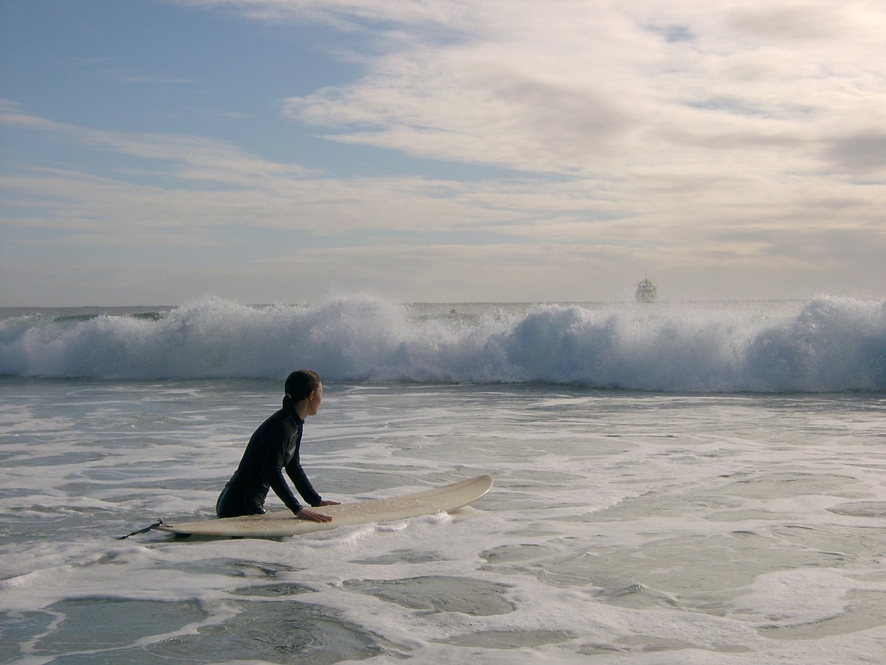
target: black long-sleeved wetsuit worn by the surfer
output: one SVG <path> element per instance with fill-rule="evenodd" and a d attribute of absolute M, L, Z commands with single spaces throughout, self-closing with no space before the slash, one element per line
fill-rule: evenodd
<path fill-rule="evenodd" d="M 268 488 L 274 489 L 287 508 L 299 512 L 302 505 L 292 494 L 283 470 L 291 478 L 295 489 L 310 505 L 319 505 L 323 499 L 307 480 L 299 462 L 301 431 L 305 421 L 292 411 L 281 409 L 255 430 L 237 471 L 221 490 L 215 505 L 219 517 L 239 517 L 265 511 Z"/>

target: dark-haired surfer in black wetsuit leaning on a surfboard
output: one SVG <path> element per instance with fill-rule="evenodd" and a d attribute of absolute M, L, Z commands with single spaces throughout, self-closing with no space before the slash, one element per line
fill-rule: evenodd
<path fill-rule="evenodd" d="M 316 372 L 299 370 L 286 379 L 283 408 L 265 420 L 250 438 L 228 484 L 221 490 L 215 513 L 221 517 L 262 514 L 268 489 L 273 489 L 296 516 L 303 520 L 328 522 L 332 518 L 301 505 L 284 478 L 284 469 L 295 489 L 308 504 L 338 505 L 324 501 L 301 468 L 301 433 L 308 416 L 314 416 L 323 399 L 323 383 Z"/>

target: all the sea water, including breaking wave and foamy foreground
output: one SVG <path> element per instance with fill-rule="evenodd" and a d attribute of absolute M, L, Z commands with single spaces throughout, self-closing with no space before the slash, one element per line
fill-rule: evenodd
<path fill-rule="evenodd" d="M 0 310 L 2 663 L 879 663 L 886 303 Z M 324 497 L 176 540 L 293 369 Z M 268 498 L 268 507 L 282 505 Z"/>

